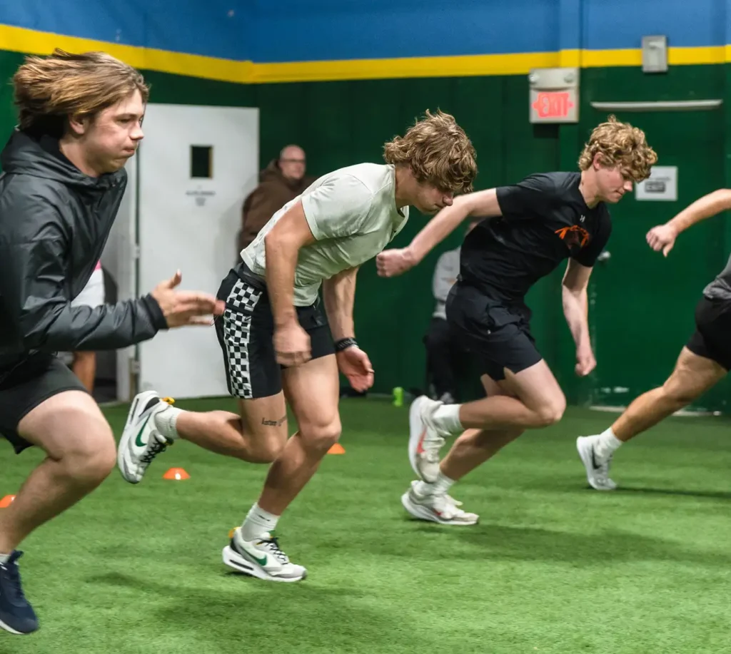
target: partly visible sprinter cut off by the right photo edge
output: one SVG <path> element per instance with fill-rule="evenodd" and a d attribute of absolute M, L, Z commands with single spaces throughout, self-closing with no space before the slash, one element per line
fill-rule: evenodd
<path fill-rule="evenodd" d="M 647 242 L 667 257 L 678 234 L 728 209 L 731 209 L 731 190 L 724 188 L 708 193 L 672 220 L 652 228 Z M 695 325 L 675 369 L 660 388 L 635 399 L 602 434 L 577 438 L 577 451 L 591 488 L 614 491 L 617 485 L 610 479 L 609 469 L 616 450 L 691 404 L 731 370 L 731 258 L 716 279 L 703 289 L 695 307 Z"/>

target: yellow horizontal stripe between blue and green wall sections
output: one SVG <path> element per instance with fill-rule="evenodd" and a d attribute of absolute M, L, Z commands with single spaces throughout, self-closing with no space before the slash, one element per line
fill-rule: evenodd
<path fill-rule="evenodd" d="M 258 64 L 203 55 L 174 53 L 148 47 L 121 45 L 0 25 L 0 50 L 47 55 L 53 48 L 71 52 L 105 50 L 144 70 L 202 77 L 208 80 L 262 84 L 268 82 L 321 82 L 334 80 L 382 80 L 408 77 L 469 77 L 526 74 L 531 68 L 550 66 L 640 66 L 637 50 L 561 50 L 549 53 L 463 55 L 342 61 L 292 61 Z M 671 66 L 731 62 L 731 45 L 670 47 Z"/>

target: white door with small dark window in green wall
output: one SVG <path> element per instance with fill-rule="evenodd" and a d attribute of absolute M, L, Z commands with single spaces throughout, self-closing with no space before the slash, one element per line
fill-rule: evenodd
<path fill-rule="evenodd" d="M 139 178 L 139 291 L 180 269 L 179 288 L 213 295 L 237 260 L 241 204 L 257 183 L 259 109 L 149 104 Z M 227 395 L 211 327 L 162 331 L 140 344 L 139 390 Z"/>

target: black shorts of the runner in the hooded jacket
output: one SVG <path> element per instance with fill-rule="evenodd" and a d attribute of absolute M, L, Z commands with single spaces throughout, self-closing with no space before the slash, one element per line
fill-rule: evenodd
<path fill-rule="evenodd" d="M 86 388 L 56 355 L 35 354 L 10 370 L 0 369 L 0 434 L 20 453 L 32 444 L 18 434 L 18 423 L 39 404 L 64 391 Z"/>

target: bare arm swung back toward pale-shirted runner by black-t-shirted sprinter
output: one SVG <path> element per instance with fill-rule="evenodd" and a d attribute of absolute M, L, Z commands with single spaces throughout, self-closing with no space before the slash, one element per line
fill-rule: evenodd
<path fill-rule="evenodd" d="M 451 207 L 442 209 L 414 240 L 401 250 L 384 250 L 376 257 L 381 277 L 394 277 L 416 266 L 469 216 L 502 215 L 496 189 L 477 191 L 455 198 Z"/>

